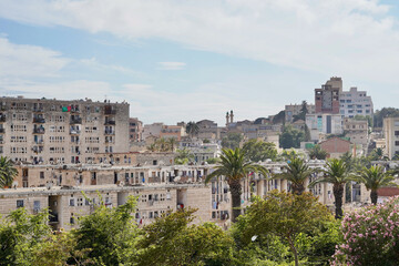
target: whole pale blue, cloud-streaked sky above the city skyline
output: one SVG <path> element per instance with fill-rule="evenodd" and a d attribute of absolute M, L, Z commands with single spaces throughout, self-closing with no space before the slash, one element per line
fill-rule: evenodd
<path fill-rule="evenodd" d="M 398 0 L 0 0 L 0 94 L 255 120 L 341 76 L 399 108 Z"/>

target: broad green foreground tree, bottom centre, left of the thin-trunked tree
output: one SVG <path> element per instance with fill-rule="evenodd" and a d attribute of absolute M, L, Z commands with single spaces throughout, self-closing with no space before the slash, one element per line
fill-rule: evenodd
<path fill-rule="evenodd" d="M 170 212 L 145 226 L 137 265 L 231 265 L 233 239 L 213 223 L 188 225 L 195 211 Z"/>

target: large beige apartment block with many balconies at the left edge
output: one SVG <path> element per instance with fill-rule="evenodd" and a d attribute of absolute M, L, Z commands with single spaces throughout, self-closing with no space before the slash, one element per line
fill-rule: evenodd
<path fill-rule="evenodd" d="M 129 103 L 2 98 L 0 153 L 14 162 L 91 163 L 127 152 Z"/>

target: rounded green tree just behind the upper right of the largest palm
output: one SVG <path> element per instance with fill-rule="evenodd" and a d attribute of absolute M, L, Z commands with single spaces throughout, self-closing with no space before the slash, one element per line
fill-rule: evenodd
<path fill-rule="evenodd" d="M 244 143 L 243 151 L 246 157 L 253 162 L 263 162 L 266 158 L 276 160 L 277 157 L 277 150 L 273 143 L 255 139 Z"/>

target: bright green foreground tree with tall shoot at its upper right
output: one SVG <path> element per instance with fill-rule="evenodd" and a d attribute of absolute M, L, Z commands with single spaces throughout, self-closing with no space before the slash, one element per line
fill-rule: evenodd
<path fill-rule="evenodd" d="M 79 228 L 72 232 L 78 249 L 90 249 L 88 256 L 96 264 L 119 265 L 135 255 L 137 228 L 132 213 L 136 200 L 129 197 L 124 205 L 109 208 L 100 205 L 88 216 L 80 217 Z"/>

